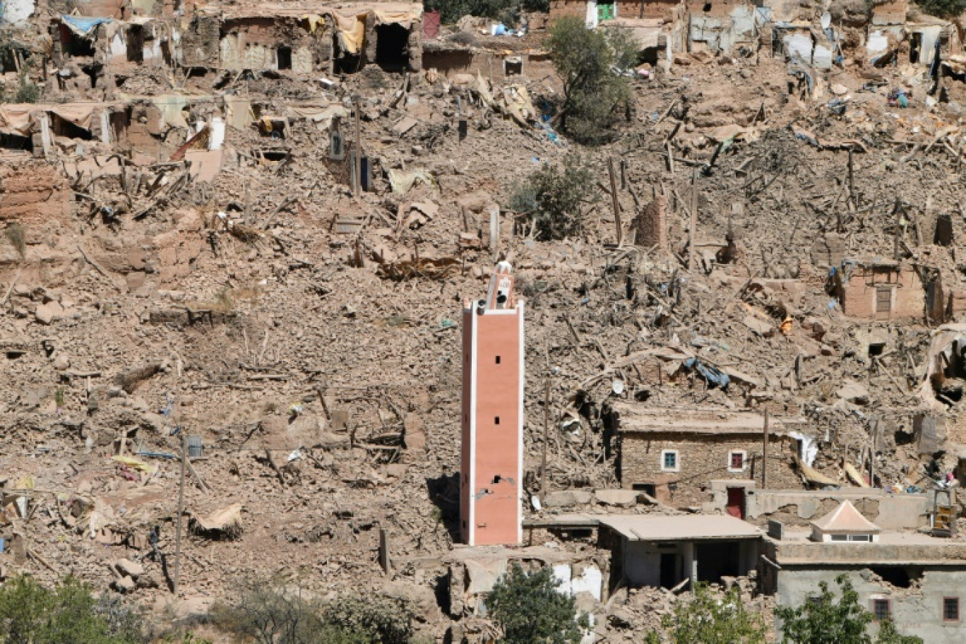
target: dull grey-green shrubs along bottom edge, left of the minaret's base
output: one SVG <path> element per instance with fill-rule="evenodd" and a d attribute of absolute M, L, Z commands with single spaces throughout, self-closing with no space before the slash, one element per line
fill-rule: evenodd
<path fill-rule="evenodd" d="M 309 601 L 279 581 L 251 583 L 212 609 L 213 623 L 258 644 L 408 644 L 412 609 L 403 600 L 342 595 Z"/>

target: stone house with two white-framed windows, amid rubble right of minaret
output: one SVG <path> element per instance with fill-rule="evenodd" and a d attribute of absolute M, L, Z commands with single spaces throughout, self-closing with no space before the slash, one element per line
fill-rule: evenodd
<path fill-rule="evenodd" d="M 751 411 L 647 409 L 616 403 L 608 423 L 619 436 L 620 480 L 674 506 L 699 506 L 712 480 L 733 481 L 744 498 L 746 484 L 761 480 L 764 417 Z M 805 435 L 804 421 L 769 419 L 767 486 L 801 489 L 792 469 Z M 734 504 L 743 500 L 734 499 Z M 729 503 L 729 505 L 732 505 Z M 736 512 L 739 516 L 743 511 Z"/>

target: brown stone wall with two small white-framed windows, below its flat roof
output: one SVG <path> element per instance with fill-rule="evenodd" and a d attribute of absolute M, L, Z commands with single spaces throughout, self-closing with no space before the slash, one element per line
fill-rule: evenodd
<path fill-rule="evenodd" d="M 677 450 L 678 471 L 661 470 L 662 451 Z M 744 450 L 745 470 L 728 471 L 729 454 Z M 674 506 L 699 505 L 710 499 L 705 489 L 712 479 L 761 480 L 761 436 L 753 434 L 623 433 L 620 439 L 620 481 L 624 488 L 655 486 L 658 500 Z M 675 484 L 671 490 L 668 484 Z M 791 468 L 788 439 L 772 435 L 768 444 L 768 487 L 802 487 Z"/>

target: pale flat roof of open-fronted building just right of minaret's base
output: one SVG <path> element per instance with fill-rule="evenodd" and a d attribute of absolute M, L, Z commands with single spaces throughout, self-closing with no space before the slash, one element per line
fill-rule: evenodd
<path fill-rule="evenodd" d="M 761 530 L 740 518 L 728 515 L 603 515 L 606 525 L 629 541 L 704 541 L 717 539 L 758 539 Z"/>

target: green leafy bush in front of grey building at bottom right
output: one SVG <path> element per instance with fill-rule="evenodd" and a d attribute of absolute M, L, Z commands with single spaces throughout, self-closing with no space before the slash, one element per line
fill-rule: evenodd
<path fill-rule="evenodd" d="M 779 606 L 782 644 L 871 644 L 867 626 L 872 614 L 859 603 L 859 594 L 844 574 L 836 577 L 840 599 L 820 581 L 821 593 L 801 606 Z M 891 622 L 883 622 L 877 644 L 923 644 L 915 636 L 899 635 Z"/>

